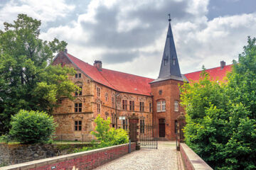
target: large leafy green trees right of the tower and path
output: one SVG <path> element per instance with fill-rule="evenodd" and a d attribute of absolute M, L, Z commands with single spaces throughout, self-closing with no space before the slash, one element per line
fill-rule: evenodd
<path fill-rule="evenodd" d="M 228 83 L 203 72 L 182 88 L 186 143 L 214 169 L 256 169 L 255 42 L 248 38 Z"/>

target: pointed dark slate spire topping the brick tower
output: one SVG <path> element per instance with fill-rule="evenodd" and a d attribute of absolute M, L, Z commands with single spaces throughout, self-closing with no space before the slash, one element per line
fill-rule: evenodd
<path fill-rule="evenodd" d="M 176 48 L 174 44 L 174 35 L 171 30 L 171 14 L 169 16 L 169 27 L 166 36 L 166 43 L 164 46 L 164 54 L 161 60 L 161 68 L 158 79 L 155 81 L 162 81 L 165 79 L 176 79 L 183 81 L 181 70 L 178 65 L 178 57 L 176 54 Z"/>

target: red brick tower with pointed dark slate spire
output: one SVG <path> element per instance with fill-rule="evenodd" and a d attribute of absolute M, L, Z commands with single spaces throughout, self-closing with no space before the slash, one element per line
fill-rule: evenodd
<path fill-rule="evenodd" d="M 179 68 L 169 15 L 169 27 L 159 77 L 150 83 L 151 94 L 153 95 L 154 137 L 163 140 L 176 139 L 177 118 L 183 112 L 183 108 L 179 104 L 178 85 L 183 84 L 184 80 L 186 77 L 181 74 Z"/>

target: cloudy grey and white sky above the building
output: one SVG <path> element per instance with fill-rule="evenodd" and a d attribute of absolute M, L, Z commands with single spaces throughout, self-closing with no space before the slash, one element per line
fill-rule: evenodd
<path fill-rule="evenodd" d="M 238 60 L 256 37 L 255 0 L 0 0 L 0 29 L 18 13 L 41 20 L 43 40 L 65 40 L 68 53 L 119 72 L 156 79 L 168 14 L 181 73 Z"/>

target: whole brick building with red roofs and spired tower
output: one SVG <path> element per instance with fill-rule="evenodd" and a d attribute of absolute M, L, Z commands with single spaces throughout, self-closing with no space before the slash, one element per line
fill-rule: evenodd
<path fill-rule="evenodd" d="M 81 89 L 73 94 L 74 101 L 60 98 L 60 106 L 53 112 L 58 123 L 56 135 L 65 140 L 92 140 L 90 132 L 95 128 L 98 114 L 111 118 L 112 127 L 126 130 L 129 116 L 137 115 L 140 133 L 144 133 L 145 125 L 152 125 L 154 137 L 175 140 L 177 118 L 183 112 L 178 85 L 198 80 L 201 73 L 181 74 L 170 22 L 157 79 L 104 69 L 101 61 L 92 66 L 67 50 L 59 52 L 53 64 L 73 67 L 77 74 L 70 79 Z M 230 65 L 221 62 L 221 67 L 207 72 L 213 79 L 222 80 L 230 69 Z"/>

